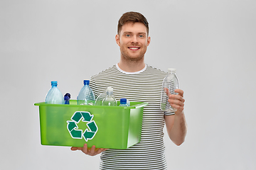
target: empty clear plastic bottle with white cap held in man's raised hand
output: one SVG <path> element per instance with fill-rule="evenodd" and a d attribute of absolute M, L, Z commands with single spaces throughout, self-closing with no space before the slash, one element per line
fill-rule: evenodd
<path fill-rule="evenodd" d="M 176 76 L 176 69 L 168 69 L 168 73 L 164 78 L 161 88 L 161 110 L 166 112 L 175 112 L 176 108 L 171 107 L 169 103 L 169 95 L 177 94 L 175 89 L 179 88 L 178 77 Z"/>

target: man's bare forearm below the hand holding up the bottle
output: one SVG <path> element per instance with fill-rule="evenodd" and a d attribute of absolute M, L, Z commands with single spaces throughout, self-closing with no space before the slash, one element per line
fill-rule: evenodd
<path fill-rule="evenodd" d="M 172 115 L 173 117 L 166 119 L 166 128 L 170 139 L 176 144 L 181 145 L 186 137 L 187 125 L 184 113 Z"/>

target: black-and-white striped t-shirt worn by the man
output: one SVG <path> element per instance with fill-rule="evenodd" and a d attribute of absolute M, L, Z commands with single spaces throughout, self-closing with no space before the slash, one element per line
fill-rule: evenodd
<path fill-rule="evenodd" d="M 164 112 L 160 109 L 161 84 L 166 72 L 146 65 L 140 72 L 128 73 L 114 65 L 92 76 L 95 96 L 114 89 L 114 98 L 147 102 L 144 107 L 141 142 L 128 149 L 102 152 L 100 169 L 167 169 L 164 155 Z M 174 113 L 169 113 L 169 115 Z"/>

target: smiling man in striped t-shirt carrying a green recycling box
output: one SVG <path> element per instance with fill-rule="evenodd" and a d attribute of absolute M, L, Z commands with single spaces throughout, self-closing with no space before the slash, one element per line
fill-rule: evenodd
<path fill-rule="evenodd" d="M 170 139 L 181 145 L 186 137 L 186 120 L 183 113 L 183 91 L 170 95 L 169 103 L 175 113 L 160 109 L 161 83 L 165 72 L 144 63 L 144 54 L 150 43 L 149 24 L 141 13 L 124 13 L 119 19 L 115 37 L 120 47 L 120 61 L 109 69 L 92 76 L 90 86 L 95 96 L 112 86 L 114 97 L 129 101 L 148 102 L 144 107 L 141 142 L 128 149 L 98 149 L 72 147 L 91 156 L 101 154 L 100 169 L 167 169 L 164 154 L 163 128 Z"/>

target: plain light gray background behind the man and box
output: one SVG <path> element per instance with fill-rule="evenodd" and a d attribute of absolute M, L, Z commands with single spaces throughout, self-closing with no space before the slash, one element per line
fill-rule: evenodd
<path fill-rule="evenodd" d="M 75 99 L 82 80 L 119 62 L 122 13 L 149 21 L 145 62 L 175 67 L 188 135 L 165 135 L 169 169 L 256 169 L 256 1 L 0 1 L 0 169 L 97 169 L 100 156 L 40 143 L 50 81 Z M 166 130 L 164 130 L 166 133 Z"/>

